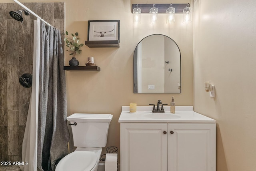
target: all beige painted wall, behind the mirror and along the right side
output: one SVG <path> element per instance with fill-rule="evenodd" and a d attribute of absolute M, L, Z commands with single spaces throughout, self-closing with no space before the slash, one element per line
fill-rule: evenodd
<path fill-rule="evenodd" d="M 0 2 L 13 2 L 0 0 Z M 22 2 L 38 2 L 23 0 Z M 43 2 L 56 2 L 44 0 Z M 176 105 L 193 105 L 195 111 L 217 121 L 217 170 L 256 170 L 256 11 L 255 0 L 195 0 L 194 86 L 192 26 L 184 26 L 176 15 L 173 26 L 148 22 L 133 26 L 130 0 L 63 0 L 66 30 L 87 38 L 88 20 L 120 20 L 120 48 L 88 48 L 78 56 L 81 65 L 93 56 L 100 72 L 66 72 L 68 115 L 74 112 L 112 113 L 107 146 L 119 147 L 121 106 L 170 103 L 173 94 L 133 93 L 133 51 L 149 34 L 170 36 L 182 55 L 182 93 L 174 94 Z M 141 3 L 142 0 L 132 0 Z M 151 0 L 148 3 L 154 3 Z M 186 0 L 172 3 L 187 3 Z M 168 3 L 164 0 L 159 3 Z M 147 16 L 142 15 L 143 18 Z M 159 15 L 160 17 L 160 15 Z M 162 16 L 162 23 L 165 17 Z M 69 56 L 66 56 L 68 64 Z M 216 97 L 204 92 L 204 81 L 216 86 Z"/>

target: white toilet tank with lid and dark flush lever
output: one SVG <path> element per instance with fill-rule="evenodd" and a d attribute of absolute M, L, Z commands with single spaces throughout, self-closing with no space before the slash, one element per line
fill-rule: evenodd
<path fill-rule="evenodd" d="M 106 147 L 111 114 L 74 113 L 67 117 L 70 121 L 75 147 Z"/>

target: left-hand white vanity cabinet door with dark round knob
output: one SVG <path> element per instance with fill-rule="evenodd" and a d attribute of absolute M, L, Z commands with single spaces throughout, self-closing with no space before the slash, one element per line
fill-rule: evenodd
<path fill-rule="evenodd" d="M 121 171 L 167 171 L 167 127 L 167 123 L 121 123 Z"/>

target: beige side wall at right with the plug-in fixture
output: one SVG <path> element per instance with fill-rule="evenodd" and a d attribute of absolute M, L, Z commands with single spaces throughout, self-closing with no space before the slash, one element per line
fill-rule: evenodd
<path fill-rule="evenodd" d="M 256 170 L 255 6 L 195 0 L 194 110 L 216 119 L 218 171 Z M 215 85 L 215 98 L 205 81 Z"/>

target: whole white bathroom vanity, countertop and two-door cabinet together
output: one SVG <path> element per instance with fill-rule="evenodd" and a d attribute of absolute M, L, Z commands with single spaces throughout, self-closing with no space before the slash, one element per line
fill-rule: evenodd
<path fill-rule="evenodd" d="M 216 171 L 216 121 L 193 106 L 122 106 L 120 171 Z"/>

